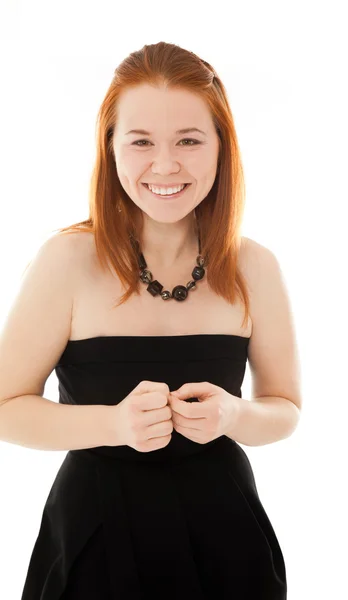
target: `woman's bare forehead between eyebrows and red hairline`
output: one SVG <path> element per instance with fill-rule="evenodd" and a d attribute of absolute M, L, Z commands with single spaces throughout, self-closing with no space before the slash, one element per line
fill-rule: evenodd
<path fill-rule="evenodd" d="M 129 88 L 118 100 L 118 123 L 122 133 L 130 129 L 159 131 L 192 126 L 208 131 L 210 110 L 198 95 L 185 89 L 154 87 L 148 84 Z"/>

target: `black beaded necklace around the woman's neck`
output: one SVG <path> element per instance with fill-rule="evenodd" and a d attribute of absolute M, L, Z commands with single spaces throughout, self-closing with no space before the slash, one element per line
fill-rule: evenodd
<path fill-rule="evenodd" d="M 174 300 L 177 300 L 178 302 L 182 302 L 182 300 L 186 300 L 186 298 L 188 296 L 188 292 L 190 290 L 196 289 L 196 281 L 203 279 L 204 274 L 205 274 L 205 269 L 203 268 L 203 265 L 205 264 L 205 259 L 200 254 L 201 253 L 201 238 L 200 238 L 199 234 L 198 234 L 198 248 L 199 248 L 198 252 L 199 252 L 199 254 L 196 258 L 197 266 L 193 269 L 193 271 L 191 273 L 193 279 L 191 279 L 186 284 L 186 286 L 185 285 L 176 285 L 172 289 L 171 292 L 169 290 L 164 290 L 162 292 L 163 285 L 159 281 L 157 281 L 157 279 L 155 279 L 153 281 L 152 273 L 151 273 L 151 271 L 148 270 L 144 255 L 140 251 L 139 242 L 132 235 L 130 236 L 130 240 L 138 254 L 140 280 L 143 283 L 149 284 L 146 289 L 152 296 L 157 296 L 158 294 L 160 294 L 162 297 L 162 300 L 169 300 L 170 298 L 174 298 Z"/>

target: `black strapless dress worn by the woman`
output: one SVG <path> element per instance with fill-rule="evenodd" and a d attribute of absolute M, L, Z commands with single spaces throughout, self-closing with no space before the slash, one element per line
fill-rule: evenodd
<path fill-rule="evenodd" d="M 249 338 L 69 341 L 59 402 L 118 404 L 142 380 L 209 381 L 241 396 Z M 197 398 L 191 401 L 198 401 Z M 42 513 L 21 600 L 284 600 L 281 548 L 241 446 L 175 430 L 152 452 L 67 452 Z"/>

